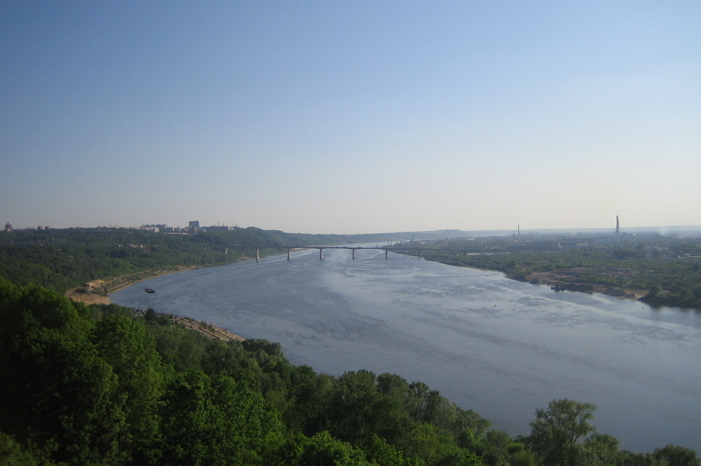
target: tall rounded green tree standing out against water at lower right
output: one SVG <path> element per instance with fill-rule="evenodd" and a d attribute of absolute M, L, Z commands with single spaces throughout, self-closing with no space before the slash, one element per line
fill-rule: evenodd
<path fill-rule="evenodd" d="M 588 421 L 597 409 L 592 403 L 553 400 L 547 409 L 536 410 L 529 443 L 539 465 L 578 466 L 583 449 L 578 442 L 596 431 Z"/>

